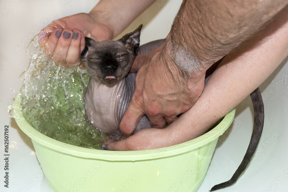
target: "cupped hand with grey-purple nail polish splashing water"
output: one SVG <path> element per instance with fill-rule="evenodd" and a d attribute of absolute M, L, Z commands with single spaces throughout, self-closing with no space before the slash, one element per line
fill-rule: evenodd
<path fill-rule="evenodd" d="M 52 21 L 39 33 L 39 43 L 45 53 L 58 61 L 78 63 L 85 47 L 85 37 L 96 41 L 112 39 L 112 31 L 95 16 L 79 13 Z"/>

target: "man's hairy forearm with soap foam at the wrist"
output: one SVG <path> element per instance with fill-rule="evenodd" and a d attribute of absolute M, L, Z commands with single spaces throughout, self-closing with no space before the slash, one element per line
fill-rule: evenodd
<path fill-rule="evenodd" d="M 263 2 L 259 6 L 252 0 L 184 0 L 166 42 L 175 63 L 191 73 L 205 71 L 288 3 Z"/>

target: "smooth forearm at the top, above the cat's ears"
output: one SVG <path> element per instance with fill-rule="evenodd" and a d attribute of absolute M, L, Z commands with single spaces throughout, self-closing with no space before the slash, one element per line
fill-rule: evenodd
<path fill-rule="evenodd" d="M 155 1 L 145 0 L 139 3 L 133 0 L 101 0 L 90 14 L 108 26 L 113 37 L 116 37 Z"/>

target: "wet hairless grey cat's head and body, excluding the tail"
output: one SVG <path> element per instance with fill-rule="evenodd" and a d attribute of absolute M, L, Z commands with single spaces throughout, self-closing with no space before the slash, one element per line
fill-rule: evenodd
<path fill-rule="evenodd" d="M 81 54 L 81 61 L 91 75 L 84 93 L 86 117 L 95 128 L 109 133 L 112 141 L 123 138 L 119 123 L 134 92 L 136 73 L 128 72 L 137 52 L 148 53 L 165 41 L 139 47 L 141 27 L 118 41 L 96 42 L 86 37 Z M 149 127 L 147 116 L 143 116 L 134 132 Z"/>

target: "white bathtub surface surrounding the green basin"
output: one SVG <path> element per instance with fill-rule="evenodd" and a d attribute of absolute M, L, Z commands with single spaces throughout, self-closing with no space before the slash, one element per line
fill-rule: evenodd
<path fill-rule="evenodd" d="M 98 2 L 98 1 L 95 1 Z M 22 82 L 18 78 L 28 66 L 25 46 L 52 20 L 78 12 L 89 12 L 96 4 L 77 0 L 1 0 L 0 7 L 0 145 L 4 146 L 4 126 L 9 126 L 9 153 L 1 147 L 0 191 L 50 192 L 31 142 L 7 115 Z M 158 0 L 137 18 L 126 31 L 144 24 L 141 44 L 165 38 L 177 14 L 180 0 Z M 119 37 L 120 37 L 119 36 Z M 287 59 L 260 86 L 265 106 L 262 137 L 247 170 L 236 184 L 221 191 L 288 191 L 288 64 Z M 206 178 L 198 192 L 229 180 L 239 166 L 250 141 L 253 110 L 248 97 L 236 108 L 236 117 L 217 143 Z M 9 156 L 9 188 L 4 187 L 5 161 Z M 177 190 L 175 190 L 177 191 Z"/>

